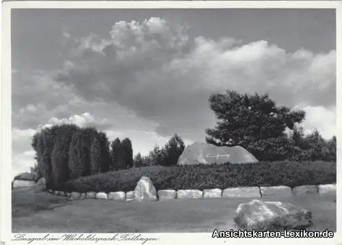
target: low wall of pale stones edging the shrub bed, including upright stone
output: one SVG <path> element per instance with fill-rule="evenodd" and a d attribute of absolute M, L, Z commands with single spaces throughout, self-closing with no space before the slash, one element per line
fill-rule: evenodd
<path fill-rule="evenodd" d="M 135 190 L 130 192 L 61 192 L 48 190 L 49 193 L 65 196 L 70 200 L 78 199 L 105 199 L 114 201 L 165 201 L 171 199 L 188 198 L 260 198 L 266 196 L 300 196 L 306 194 L 335 194 L 336 184 L 330 185 L 302 185 L 295 188 L 288 186 L 269 187 L 241 187 L 210 189 L 210 190 L 159 190 L 156 192 L 152 181 L 148 177 L 142 177 L 137 183 Z"/>

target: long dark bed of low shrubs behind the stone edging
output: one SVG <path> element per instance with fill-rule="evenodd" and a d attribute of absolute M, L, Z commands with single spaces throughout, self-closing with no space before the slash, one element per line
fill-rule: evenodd
<path fill-rule="evenodd" d="M 157 190 L 233 188 L 239 186 L 320 185 L 336 183 L 336 163 L 259 162 L 254 164 L 150 166 L 118 170 L 63 183 L 66 192 L 128 192 L 142 176 Z"/>

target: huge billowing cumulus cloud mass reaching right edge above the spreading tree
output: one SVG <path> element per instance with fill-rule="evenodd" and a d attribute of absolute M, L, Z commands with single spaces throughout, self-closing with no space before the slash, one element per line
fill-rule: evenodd
<path fill-rule="evenodd" d="M 160 18 L 120 21 L 103 39 L 94 34 L 78 47 L 55 80 L 73 86 L 86 100 L 114 101 L 155 120 L 157 132 L 174 131 L 202 140 L 215 125 L 212 92 L 268 92 L 282 105 L 334 105 L 336 51 L 294 53 L 265 40 L 191 40 L 187 29 Z"/>

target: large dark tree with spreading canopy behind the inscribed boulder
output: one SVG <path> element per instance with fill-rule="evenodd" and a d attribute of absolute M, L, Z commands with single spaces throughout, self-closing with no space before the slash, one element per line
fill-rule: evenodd
<path fill-rule="evenodd" d="M 218 125 L 206 129 L 206 141 L 218 146 L 242 146 L 259 161 L 286 159 L 289 151 L 285 129 L 302 123 L 305 112 L 276 106 L 268 94 L 239 94 L 227 90 L 209 97 Z"/>

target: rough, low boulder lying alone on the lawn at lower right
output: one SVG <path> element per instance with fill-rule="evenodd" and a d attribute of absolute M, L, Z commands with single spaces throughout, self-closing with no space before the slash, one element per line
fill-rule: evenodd
<path fill-rule="evenodd" d="M 305 229 L 311 226 L 311 211 L 291 203 L 253 200 L 237 207 L 235 224 L 239 229 L 265 231 Z"/>

